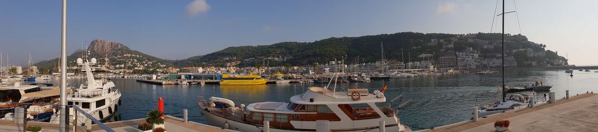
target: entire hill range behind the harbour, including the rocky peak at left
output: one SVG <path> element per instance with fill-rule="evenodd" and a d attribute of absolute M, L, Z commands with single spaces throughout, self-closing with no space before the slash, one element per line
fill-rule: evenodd
<path fill-rule="evenodd" d="M 515 56 L 518 66 L 527 66 L 530 62 L 540 65 L 566 64 L 564 57 L 545 50 L 544 44 L 527 41 L 526 36 L 505 35 L 505 37 L 505 51 L 507 55 Z M 457 35 L 400 32 L 328 38 L 314 42 L 280 42 L 272 45 L 228 47 L 214 53 L 182 60 L 160 59 L 132 50 L 118 42 L 102 39 L 91 41 L 87 50 L 90 51 L 91 57 L 98 59 L 100 65 L 103 65 L 104 59 L 108 57 L 111 69 L 152 70 L 172 66 L 262 66 L 264 62 L 268 62 L 269 66 L 300 66 L 327 63 L 335 59 L 340 61 L 343 57 L 346 57 L 344 60 L 346 63 L 368 63 L 382 58 L 382 47 L 386 59 L 397 61 L 419 61 L 422 59 L 419 57 L 422 54 L 432 54 L 438 61 L 439 57 L 455 56 L 457 52 L 475 53 L 485 59 L 493 59 L 501 53 L 501 46 L 499 33 Z M 68 65 L 74 66 L 75 59 L 81 57 L 83 53 L 85 53 L 83 50 L 79 50 L 71 54 L 68 57 Z M 57 59 L 53 59 L 36 63 L 35 66 L 54 69 L 57 64 Z"/>

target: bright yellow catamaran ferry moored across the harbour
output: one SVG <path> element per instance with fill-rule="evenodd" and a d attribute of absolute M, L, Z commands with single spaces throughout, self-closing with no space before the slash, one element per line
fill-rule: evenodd
<path fill-rule="evenodd" d="M 222 75 L 222 79 L 220 81 L 220 85 L 260 85 L 266 84 L 268 80 L 261 78 L 260 75 L 254 75 L 253 73 L 249 73 L 249 75 Z"/>

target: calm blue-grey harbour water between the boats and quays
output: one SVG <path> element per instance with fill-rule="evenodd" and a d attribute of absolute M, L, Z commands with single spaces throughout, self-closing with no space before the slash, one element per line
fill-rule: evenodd
<path fill-rule="evenodd" d="M 565 90 L 571 95 L 596 91 L 598 73 L 579 72 L 573 77 L 564 70 L 514 70 L 506 73 L 509 87 L 523 87 L 535 81 L 544 81 L 544 85 L 553 85 L 557 99 L 565 97 Z M 197 108 L 198 96 L 216 96 L 236 100 L 238 104 L 249 102 L 289 102 L 289 97 L 302 94 L 307 87 L 324 84 L 268 84 L 261 86 L 219 86 L 219 85 L 153 85 L 136 82 L 135 79 L 112 79 L 120 88 L 123 106 L 118 109 L 115 120 L 145 118 L 145 112 L 157 109 L 157 100 L 164 99 L 167 115 L 182 118 L 182 109 L 189 109 L 191 121 L 205 122 Z M 57 80 L 45 80 L 57 84 Z M 69 85 L 80 83 L 80 79 L 70 79 Z M 401 123 L 413 130 L 439 127 L 471 118 L 472 106 L 484 105 L 501 100 L 497 87 L 501 85 L 501 73 L 476 75 L 426 76 L 420 78 L 391 79 L 370 83 L 340 84 L 339 87 L 365 87 L 380 90 L 383 84 L 389 85 L 385 95 L 388 100 L 403 95 L 403 101 L 413 99 L 399 112 Z M 531 93 L 523 93 L 531 94 Z M 538 100 L 544 100 L 544 93 L 536 93 Z M 241 102 L 238 100 L 244 100 Z M 401 101 L 401 100 L 398 100 Z M 394 103 L 398 104 L 398 103 Z M 378 104 L 388 105 L 388 104 Z M 396 107 L 396 105 L 393 105 Z"/>

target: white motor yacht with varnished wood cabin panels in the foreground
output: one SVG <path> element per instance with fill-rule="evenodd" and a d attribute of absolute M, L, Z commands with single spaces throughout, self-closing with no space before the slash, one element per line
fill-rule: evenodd
<path fill-rule="evenodd" d="M 320 120 L 328 120 L 329 131 L 379 131 L 379 121 L 385 121 L 386 131 L 411 131 L 400 123 L 395 110 L 376 106 L 386 102 L 380 91 L 307 89 L 304 94 L 292 96 L 290 103 L 237 106 L 229 99 L 200 97 L 199 106 L 209 125 L 237 131 L 263 131 L 264 121 L 269 121 L 270 131 L 316 131 L 316 121 Z"/>

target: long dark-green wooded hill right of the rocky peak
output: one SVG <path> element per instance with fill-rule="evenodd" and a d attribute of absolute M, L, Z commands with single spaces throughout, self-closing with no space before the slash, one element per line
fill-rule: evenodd
<path fill-rule="evenodd" d="M 446 34 L 446 33 L 415 33 L 400 32 L 382 35 L 369 35 L 359 37 L 328 38 L 314 42 L 280 42 L 272 45 L 228 47 L 224 50 L 196 56 L 173 63 L 178 66 L 260 66 L 264 60 L 270 60 L 271 66 L 279 65 L 311 65 L 312 63 L 325 63 L 335 59 L 340 60 L 346 56 L 347 63 L 375 62 L 382 57 L 383 45 L 385 57 L 388 60 L 412 61 L 420 60 L 421 54 L 434 54 L 438 59 L 441 56 L 454 56 L 471 48 L 481 54 L 480 57 L 494 57 L 501 53 L 500 33 L 472 33 L 472 34 Z M 530 53 L 544 52 L 544 57 L 517 56 L 518 62 L 536 61 L 550 64 L 550 61 L 565 59 L 553 51 L 546 51 L 546 45 L 527 41 L 523 35 L 505 35 L 505 51 L 514 54 L 515 49 L 527 49 Z M 520 51 L 520 50 L 518 50 Z M 273 61 L 271 59 L 278 60 Z M 521 60 L 521 61 L 520 61 Z M 566 61 L 566 60 L 565 60 Z M 554 64 L 551 64 L 554 65 Z"/>

